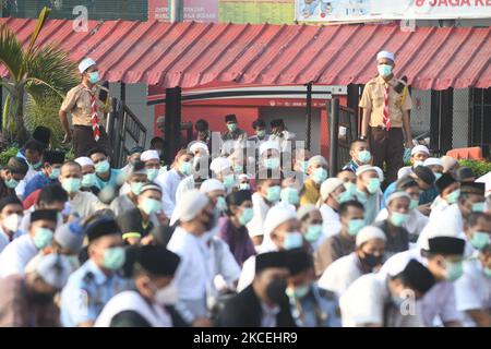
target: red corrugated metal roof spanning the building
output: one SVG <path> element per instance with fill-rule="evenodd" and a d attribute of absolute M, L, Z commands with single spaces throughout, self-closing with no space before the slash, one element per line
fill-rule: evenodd
<path fill-rule="evenodd" d="M 26 44 L 35 20 L 0 19 Z M 50 20 L 39 41 L 59 43 L 74 60 L 94 58 L 104 80 L 166 87 L 211 82 L 347 85 L 376 74 L 374 57 L 396 52 L 396 74 L 412 87 L 491 86 L 491 28 L 397 25 L 242 25 Z M 96 28 L 97 27 L 97 28 Z M 96 29 L 95 29 L 96 28 Z M 95 31 L 94 31 L 95 29 Z M 95 32 L 91 35 L 92 32 Z M 7 71 L 1 68 L 0 74 Z"/>

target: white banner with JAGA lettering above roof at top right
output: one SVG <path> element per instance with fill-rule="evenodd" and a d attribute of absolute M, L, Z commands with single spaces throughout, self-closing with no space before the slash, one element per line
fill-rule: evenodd
<path fill-rule="evenodd" d="M 364 22 L 491 17 L 491 0 L 295 0 L 296 20 Z"/>

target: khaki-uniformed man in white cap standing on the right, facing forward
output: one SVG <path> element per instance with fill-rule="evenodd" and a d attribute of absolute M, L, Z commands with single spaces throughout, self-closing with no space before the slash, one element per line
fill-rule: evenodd
<path fill-rule="evenodd" d="M 387 183 L 397 179 L 397 171 L 404 165 L 403 145 L 412 147 L 409 124 L 411 96 L 405 82 L 394 76 L 394 53 L 379 52 L 379 75 L 367 83 L 359 105 L 363 108 L 361 139 L 370 142 L 374 166 L 383 168 L 383 163 L 386 163 Z"/>

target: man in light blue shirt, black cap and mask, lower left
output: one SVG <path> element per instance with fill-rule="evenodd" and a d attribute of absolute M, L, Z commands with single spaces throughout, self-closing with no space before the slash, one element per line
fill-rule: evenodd
<path fill-rule="evenodd" d="M 89 327 L 115 294 L 129 289 L 118 270 L 124 264 L 121 231 L 116 220 L 101 217 L 86 227 L 88 260 L 73 273 L 61 292 L 61 324 Z"/>

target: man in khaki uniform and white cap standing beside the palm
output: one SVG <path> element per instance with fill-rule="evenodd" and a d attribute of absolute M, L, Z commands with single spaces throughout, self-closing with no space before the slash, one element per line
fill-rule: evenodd
<path fill-rule="evenodd" d="M 65 132 L 63 143 L 72 141 L 72 131 L 68 121 L 70 112 L 75 157 L 86 156 L 87 152 L 95 147 L 103 147 L 111 154 L 109 139 L 104 128 L 104 115 L 108 112 L 108 106 L 99 99 L 101 91 L 107 92 L 109 98 L 109 91 L 97 85 L 99 72 L 96 62 L 91 58 L 84 59 L 79 64 L 79 71 L 82 74 L 82 83 L 69 91 L 59 112 Z"/>

